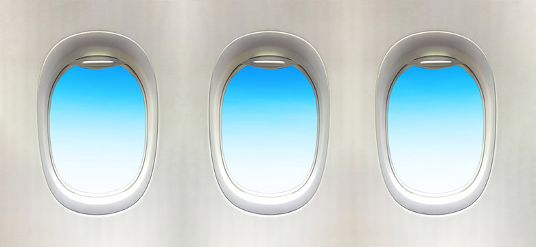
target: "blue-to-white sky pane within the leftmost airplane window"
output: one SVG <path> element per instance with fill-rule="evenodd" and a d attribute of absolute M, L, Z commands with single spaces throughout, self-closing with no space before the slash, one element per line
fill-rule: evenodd
<path fill-rule="evenodd" d="M 50 102 L 50 145 L 60 178 L 88 193 L 121 189 L 136 178 L 145 148 L 145 103 L 124 67 L 71 67 Z"/>

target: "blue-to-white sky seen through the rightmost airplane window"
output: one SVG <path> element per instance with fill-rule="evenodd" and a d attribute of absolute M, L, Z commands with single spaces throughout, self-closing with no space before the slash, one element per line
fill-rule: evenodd
<path fill-rule="evenodd" d="M 387 123 L 391 161 L 408 187 L 444 193 L 476 174 L 484 115 L 478 85 L 465 69 L 408 68 L 391 91 Z"/>

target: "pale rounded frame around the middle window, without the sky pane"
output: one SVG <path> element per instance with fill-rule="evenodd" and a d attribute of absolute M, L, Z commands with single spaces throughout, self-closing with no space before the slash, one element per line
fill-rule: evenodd
<path fill-rule="evenodd" d="M 226 171 L 220 136 L 222 98 L 227 82 L 240 64 L 252 58 L 282 58 L 299 65 L 310 79 L 317 99 L 318 132 L 316 156 L 306 180 L 283 193 L 252 193 L 237 187 Z M 289 213 L 314 196 L 324 170 L 329 132 L 329 91 L 320 55 L 307 41 L 283 32 L 255 32 L 233 40 L 220 54 L 213 69 L 209 95 L 209 134 L 213 168 L 224 196 L 236 207 L 262 215 Z"/>

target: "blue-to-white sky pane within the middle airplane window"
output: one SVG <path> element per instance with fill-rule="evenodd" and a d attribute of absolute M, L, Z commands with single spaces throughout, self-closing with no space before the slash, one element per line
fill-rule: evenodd
<path fill-rule="evenodd" d="M 299 69 L 240 69 L 222 103 L 222 149 L 229 174 L 252 191 L 294 189 L 312 167 L 316 126 L 316 97 Z"/>

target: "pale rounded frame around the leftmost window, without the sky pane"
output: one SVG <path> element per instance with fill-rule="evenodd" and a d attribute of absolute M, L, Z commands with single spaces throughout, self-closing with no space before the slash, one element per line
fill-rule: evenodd
<path fill-rule="evenodd" d="M 107 58 L 114 61 L 114 66 L 125 64 L 138 80 L 145 101 L 145 152 L 139 172 L 129 185 L 110 193 L 82 193 L 65 186 L 54 167 L 49 142 L 49 107 L 54 85 L 70 65 L 93 58 Z M 43 172 L 49 189 L 60 204 L 78 213 L 103 215 L 127 209 L 143 196 L 152 176 L 156 154 L 158 95 L 150 60 L 134 40 L 121 34 L 101 31 L 82 32 L 64 38 L 45 58 L 39 78 L 37 104 Z"/>

